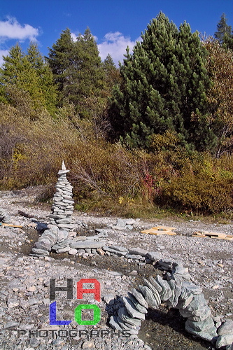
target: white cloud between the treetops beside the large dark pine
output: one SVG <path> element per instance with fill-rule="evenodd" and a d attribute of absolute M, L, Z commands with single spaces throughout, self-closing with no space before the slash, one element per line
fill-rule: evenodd
<path fill-rule="evenodd" d="M 141 37 L 137 38 L 136 41 L 141 41 Z M 129 36 L 124 36 L 120 31 L 107 33 L 104 36 L 104 42 L 98 45 L 99 55 L 104 60 L 109 53 L 118 66 L 118 62 L 122 62 L 124 59 L 127 46 L 129 46 L 129 52 L 132 52 L 136 41 L 132 41 Z"/>

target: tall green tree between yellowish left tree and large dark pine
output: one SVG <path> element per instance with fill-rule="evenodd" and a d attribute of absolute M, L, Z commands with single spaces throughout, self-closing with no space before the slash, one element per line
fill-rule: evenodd
<path fill-rule="evenodd" d="M 67 101 L 74 104 L 79 116 L 88 118 L 88 101 L 99 96 L 104 83 L 101 58 L 90 29 L 79 34 L 76 41 L 71 38 L 69 29 L 63 31 L 47 59 L 58 85 L 61 104 Z"/>

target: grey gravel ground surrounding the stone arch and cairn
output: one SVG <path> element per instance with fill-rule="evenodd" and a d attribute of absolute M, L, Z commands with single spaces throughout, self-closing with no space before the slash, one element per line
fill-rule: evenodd
<path fill-rule="evenodd" d="M 36 230 L 29 228 L 29 218 L 17 212 L 34 216 L 40 222 L 48 221 L 50 206 L 36 204 L 35 198 L 42 190 L 41 186 L 20 191 L 0 193 L 0 208 L 5 209 L 12 223 L 23 228 L 1 228 L 0 226 L 0 262 L 1 262 L 1 331 L 0 349 L 215 349 L 213 344 L 193 337 L 185 332 L 185 318 L 176 309 L 161 305 L 159 310 L 151 310 L 142 322 L 139 338 L 119 337 L 108 327 L 106 302 L 109 295 L 127 295 L 127 292 L 141 283 L 143 276 L 162 274 L 152 265 L 139 266 L 129 263 L 125 258 L 94 255 L 92 258 L 73 257 L 64 254 L 52 254 L 48 258 L 29 256 L 31 246 L 38 240 Z M 164 259 L 181 261 L 188 267 L 192 281 L 202 286 L 206 300 L 216 321 L 233 320 L 233 241 L 211 238 L 191 237 L 197 230 L 225 232 L 231 235 L 232 225 L 208 224 L 201 221 L 143 221 L 137 222 L 134 230 L 113 230 L 118 218 L 87 215 L 78 211 L 73 213 L 76 221 L 82 221 L 88 228 L 81 235 L 94 235 L 94 228 L 108 228 L 109 244 L 118 244 L 127 248 L 141 247 L 148 251 L 160 251 Z M 155 225 L 167 225 L 176 228 L 176 236 L 145 235 L 141 230 Z M 66 279 L 72 278 L 73 284 L 82 278 L 97 278 L 101 283 L 101 321 L 94 330 L 107 333 L 104 337 L 88 337 L 93 326 L 80 326 L 72 321 L 68 326 L 53 326 L 52 329 L 76 330 L 75 337 L 57 337 L 51 335 L 29 338 L 29 331 L 49 330 L 49 279 L 57 279 L 61 286 Z M 73 295 L 76 289 L 73 287 Z M 59 294 L 59 293 L 58 293 Z M 64 299 L 64 293 L 61 298 Z M 85 295 L 85 302 L 94 303 L 92 295 Z M 57 297 L 59 300 L 59 296 Z M 83 302 L 83 301 L 82 301 Z M 73 319 L 73 309 L 77 300 L 63 300 L 57 309 L 57 319 Z M 88 319 L 88 318 L 87 318 Z M 21 330 L 17 337 L 17 330 Z M 88 330 L 88 332 L 87 332 Z M 23 332 L 26 334 L 22 334 Z M 83 334 L 80 334 L 83 332 Z M 88 334 L 85 334 L 87 332 Z M 56 333 L 57 334 L 57 333 Z M 102 334 L 102 333 L 101 333 Z"/>

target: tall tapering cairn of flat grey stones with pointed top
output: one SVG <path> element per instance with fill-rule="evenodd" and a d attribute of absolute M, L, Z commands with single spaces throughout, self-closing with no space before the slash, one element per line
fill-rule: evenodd
<path fill-rule="evenodd" d="M 59 230 L 73 230 L 73 193 L 71 183 L 66 179 L 66 170 L 62 162 L 62 170 L 59 170 L 56 184 L 56 193 L 53 197 L 51 214 L 49 216 L 52 225 L 57 225 Z"/>

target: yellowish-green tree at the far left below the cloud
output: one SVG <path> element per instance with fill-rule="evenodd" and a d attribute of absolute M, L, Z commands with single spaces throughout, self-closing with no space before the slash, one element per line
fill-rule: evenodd
<path fill-rule="evenodd" d="M 10 48 L 9 54 L 3 57 L 0 69 L 3 102 L 13 103 L 13 95 L 8 90 L 26 92 L 31 98 L 34 109 L 45 108 L 50 113 L 55 111 L 56 89 L 50 69 L 44 64 L 36 45 L 31 43 L 28 54 L 16 44 Z"/>

